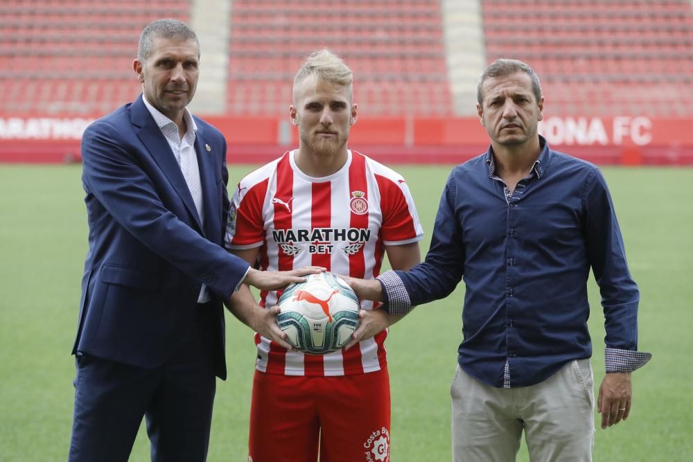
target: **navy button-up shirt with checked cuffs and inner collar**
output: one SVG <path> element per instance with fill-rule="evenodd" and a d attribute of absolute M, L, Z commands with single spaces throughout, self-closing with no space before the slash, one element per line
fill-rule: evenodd
<path fill-rule="evenodd" d="M 639 354 L 638 286 L 604 177 L 540 141 L 532 172 L 513 192 L 495 176 L 491 148 L 455 167 L 426 261 L 379 276 L 390 312 L 444 298 L 464 277 L 458 361 L 493 387 L 537 384 L 591 356 L 590 269 L 602 293 L 607 352 Z"/>

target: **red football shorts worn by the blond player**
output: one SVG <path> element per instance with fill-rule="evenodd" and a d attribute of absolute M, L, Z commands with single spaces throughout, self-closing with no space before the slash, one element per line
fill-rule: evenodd
<path fill-rule="evenodd" d="M 389 461 L 387 368 L 339 377 L 255 371 L 249 461 Z"/>

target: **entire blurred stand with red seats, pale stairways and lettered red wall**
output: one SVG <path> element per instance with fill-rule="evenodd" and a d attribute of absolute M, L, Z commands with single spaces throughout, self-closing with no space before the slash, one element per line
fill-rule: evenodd
<path fill-rule="evenodd" d="M 531 64 L 541 130 L 597 163 L 693 165 L 692 0 L 2 0 L 0 161 L 79 159 L 83 127 L 141 87 L 143 26 L 176 17 L 202 44 L 191 110 L 229 159 L 295 145 L 303 58 L 330 48 L 356 74 L 350 143 L 381 161 L 457 162 L 488 138 L 475 114 L 487 63 Z"/>

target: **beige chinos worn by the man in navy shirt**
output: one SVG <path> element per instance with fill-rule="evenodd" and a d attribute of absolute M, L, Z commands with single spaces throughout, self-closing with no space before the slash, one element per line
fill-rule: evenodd
<path fill-rule="evenodd" d="M 595 417 L 589 359 L 565 364 L 530 387 L 489 387 L 457 366 L 453 461 L 512 462 L 523 430 L 532 462 L 592 461 Z"/>

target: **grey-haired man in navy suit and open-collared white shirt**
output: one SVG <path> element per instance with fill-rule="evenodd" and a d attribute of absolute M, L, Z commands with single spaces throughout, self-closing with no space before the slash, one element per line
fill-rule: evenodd
<path fill-rule="evenodd" d="M 89 251 L 70 461 L 127 461 L 143 416 L 152 461 L 204 461 L 226 377 L 222 302 L 241 283 L 272 290 L 319 271 L 258 272 L 221 247 L 225 139 L 186 109 L 199 64 L 188 26 L 152 22 L 133 63 L 143 95 L 82 138 Z"/>

